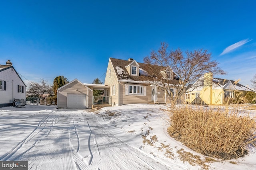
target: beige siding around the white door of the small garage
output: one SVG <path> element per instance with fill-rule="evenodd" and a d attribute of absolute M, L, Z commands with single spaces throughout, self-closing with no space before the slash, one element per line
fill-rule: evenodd
<path fill-rule="evenodd" d="M 77 89 L 77 90 L 76 90 Z M 88 108 L 92 108 L 92 92 L 87 87 L 83 86 L 78 81 L 71 82 L 67 86 L 61 88 L 57 92 L 57 106 L 59 109 L 67 108 L 67 96 L 68 94 L 86 94 L 86 102 L 88 100 Z M 91 102 L 90 102 L 91 100 Z"/>

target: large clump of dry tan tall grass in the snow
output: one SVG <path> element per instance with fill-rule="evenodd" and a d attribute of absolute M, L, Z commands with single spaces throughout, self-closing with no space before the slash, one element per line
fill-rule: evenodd
<path fill-rule="evenodd" d="M 191 106 L 170 110 L 168 133 L 190 149 L 214 158 L 244 156 L 256 141 L 256 122 L 238 110 Z"/>

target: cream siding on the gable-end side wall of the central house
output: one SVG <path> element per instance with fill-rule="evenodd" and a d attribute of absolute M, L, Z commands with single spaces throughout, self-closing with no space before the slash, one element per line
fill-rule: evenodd
<path fill-rule="evenodd" d="M 109 69 L 111 69 L 111 76 L 109 76 Z M 107 86 L 110 86 L 110 90 L 108 92 L 108 95 L 111 96 L 112 105 L 113 104 L 115 104 L 116 106 L 120 105 L 118 103 L 118 94 L 119 94 L 118 79 L 117 79 L 114 67 L 113 67 L 110 60 L 108 61 L 107 74 L 106 74 L 106 77 L 105 77 L 105 83 L 104 84 L 107 85 Z M 115 88 L 115 95 L 112 96 L 112 86 L 113 85 L 115 85 L 116 88 Z"/>

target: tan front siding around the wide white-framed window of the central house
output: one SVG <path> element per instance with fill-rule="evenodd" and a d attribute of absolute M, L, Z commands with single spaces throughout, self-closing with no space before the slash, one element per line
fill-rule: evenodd
<path fill-rule="evenodd" d="M 151 102 L 151 87 L 146 86 L 146 96 L 125 95 L 125 84 L 120 83 L 120 105 L 123 104 L 146 104 Z"/>

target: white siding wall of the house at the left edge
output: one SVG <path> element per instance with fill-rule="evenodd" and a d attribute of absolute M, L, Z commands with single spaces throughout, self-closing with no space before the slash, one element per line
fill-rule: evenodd
<path fill-rule="evenodd" d="M 2 70 L 0 80 L 6 81 L 6 90 L 0 90 L 0 104 L 10 104 L 13 102 L 13 98 L 26 100 L 26 86 L 14 68 Z M 18 93 L 18 85 L 24 86 L 24 93 Z"/>

